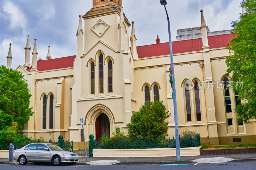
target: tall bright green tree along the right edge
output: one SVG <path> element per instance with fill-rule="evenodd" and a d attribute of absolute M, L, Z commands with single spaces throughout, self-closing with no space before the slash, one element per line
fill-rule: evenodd
<path fill-rule="evenodd" d="M 234 92 L 243 102 L 236 107 L 238 122 L 256 119 L 256 1 L 243 0 L 241 6 L 246 13 L 237 21 L 232 21 L 234 39 L 227 47 L 230 56 L 226 63 L 227 75 L 233 73 Z M 236 82 L 243 83 L 237 88 Z"/>

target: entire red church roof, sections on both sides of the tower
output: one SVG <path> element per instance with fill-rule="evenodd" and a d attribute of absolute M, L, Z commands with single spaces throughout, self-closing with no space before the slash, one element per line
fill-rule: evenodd
<path fill-rule="evenodd" d="M 233 34 L 209 36 L 208 44 L 210 48 L 227 47 L 227 45 L 230 44 L 230 40 L 232 40 L 233 37 L 234 37 Z M 193 40 L 184 40 L 184 41 L 173 41 L 172 51 L 173 51 L 173 54 L 201 51 L 202 46 L 203 46 L 202 38 L 193 39 Z M 170 55 L 169 42 L 139 46 L 137 47 L 137 53 L 139 58 L 153 57 L 153 56 L 160 56 L 160 55 Z M 54 70 L 54 69 L 73 67 L 74 66 L 73 60 L 75 58 L 76 58 L 76 55 L 61 57 L 61 58 L 54 58 L 49 60 L 40 59 L 37 61 L 37 70 L 44 71 L 44 70 Z M 31 68 L 28 68 L 27 70 L 30 71 Z"/>

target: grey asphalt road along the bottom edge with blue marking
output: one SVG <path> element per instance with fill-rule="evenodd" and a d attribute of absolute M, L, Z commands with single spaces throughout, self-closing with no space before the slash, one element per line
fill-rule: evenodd
<path fill-rule="evenodd" d="M 0 165 L 1 170 L 12 170 L 12 169 L 33 169 L 33 170 L 58 170 L 58 169 L 89 169 L 89 170 L 164 170 L 164 169 L 227 169 L 227 170 L 255 170 L 256 169 L 256 161 L 255 162 L 228 162 L 228 163 L 208 163 L 208 164 L 185 164 L 185 165 L 61 165 L 61 166 L 51 166 L 49 164 L 44 164 L 40 166 L 36 165 Z"/>

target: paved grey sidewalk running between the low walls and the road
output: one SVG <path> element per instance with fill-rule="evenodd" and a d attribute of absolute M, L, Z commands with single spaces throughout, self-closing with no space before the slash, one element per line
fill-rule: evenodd
<path fill-rule="evenodd" d="M 85 151 L 77 150 L 73 151 L 78 154 L 79 164 L 84 164 L 86 162 Z M 141 158 L 90 158 L 89 150 L 87 152 L 88 162 L 99 161 L 99 160 L 117 160 L 118 164 L 170 164 L 177 163 L 176 157 L 141 157 Z M 181 156 L 181 160 L 179 162 L 183 163 L 193 163 L 193 160 L 199 158 L 217 158 L 217 157 L 225 157 L 234 159 L 234 162 L 239 161 L 256 161 L 256 153 L 243 153 L 243 154 L 227 154 L 227 155 L 204 155 L 204 156 Z M 16 161 L 9 162 L 9 159 L 0 159 L 0 164 L 15 164 Z"/>

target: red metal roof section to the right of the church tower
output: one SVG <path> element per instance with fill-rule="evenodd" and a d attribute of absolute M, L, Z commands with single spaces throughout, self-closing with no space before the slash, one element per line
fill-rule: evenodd
<path fill-rule="evenodd" d="M 227 47 L 230 44 L 230 40 L 233 39 L 233 34 L 223 34 L 208 37 L 208 44 L 210 48 L 221 48 Z M 202 38 L 183 40 L 183 41 L 173 41 L 172 42 L 172 53 L 187 53 L 193 51 L 202 50 Z M 145 46 L 137 47 L 138 58 L 153 57 L 160 55 L 170 55 L 169 42 L 160 44 L 151 44 Z"/>

